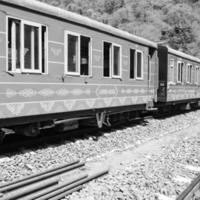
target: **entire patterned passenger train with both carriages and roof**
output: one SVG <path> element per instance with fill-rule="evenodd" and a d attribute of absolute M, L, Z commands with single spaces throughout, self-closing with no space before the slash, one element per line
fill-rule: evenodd
<path fill-rule="evenodd" d="M 200 59 L 38 1 L 0 0 L 0 127 L 188 107 Z M 5 135 L 1 131 L 1 138 Z"/>

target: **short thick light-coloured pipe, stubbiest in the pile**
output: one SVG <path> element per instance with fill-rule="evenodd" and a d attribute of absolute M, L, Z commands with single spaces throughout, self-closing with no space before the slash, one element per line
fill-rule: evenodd
<path fill-rule="evenodd" d="M 58 183 L 58 181 L 59 181 L 59 178 L 54 177 L 54 178 L 51 178 L 51 179 L 48 179 L 48 180 L 45 180 L 45 181 L 41 181 L 39 183 L 34 183 L 33 185 L 29 185 L 27 187 L 20 188 L 18 190 L 14 190 L 12 192 L 9 192 L 9 193 L 5 194 L 0 199 L 1 200 L 12 200 L 12 199 L 15 200 L 16 198 L 21 197 L 23 195 L 26 195 L 28 193 L 31 193 L 31 192 L 37 191 L 41 188 L 45 188 L 47 186 Z"/>

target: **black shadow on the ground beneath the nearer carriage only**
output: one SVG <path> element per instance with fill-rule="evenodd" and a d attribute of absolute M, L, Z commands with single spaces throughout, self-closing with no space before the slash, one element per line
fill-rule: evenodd
<path fill-rule="evenodd" d="M 112 127 L 104 127 L 98 129 L 92 126 L 81 126 L 72 131 L 58 132 L 55 129 L 43 130 L 41 135 L 30 138 L 23 135 L 8 135 L 5 137 L 4 143 L 0 145 L 0 155 L 18 153 L 26 150 L 37 150 L 40 148 L 47 148 L 51 145 L 61 145 L 66 142 L 76 142 L 77 140 L 92 139 L 98 141 L 105 134 L 113 131 L 123 130 L 125 128 L 132 128 L 134 126 L 146 126 L 148 121 L 145 118 L 134 119 L 126 123 L 117 123 Z"/>

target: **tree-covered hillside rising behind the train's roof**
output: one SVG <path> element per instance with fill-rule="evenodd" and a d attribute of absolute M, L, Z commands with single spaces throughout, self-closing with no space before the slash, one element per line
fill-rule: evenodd
<path fill-rule="evenodd" d="M 39 0 L 200 57 L 200 0 Z"/>

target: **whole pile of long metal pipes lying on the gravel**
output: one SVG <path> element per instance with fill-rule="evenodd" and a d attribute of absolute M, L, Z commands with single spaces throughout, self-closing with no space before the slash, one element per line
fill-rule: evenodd
<path fill-rule="evenodd" d="M 77 160 L 1 185 L 0 200 L 59 200 L 80 190 L 83 184 L 108 173 L 108 169 L 103 169 L 93 174 L 79 171 L 70 175 L 84 165 Z"/>

